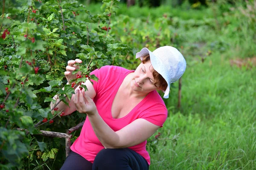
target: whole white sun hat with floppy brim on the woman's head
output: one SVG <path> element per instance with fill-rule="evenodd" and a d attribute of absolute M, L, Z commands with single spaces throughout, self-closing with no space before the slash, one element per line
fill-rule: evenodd
<path fill-rule="evenodd" d="M 171 46 L 163 46 L 157 48 L 153 52 L 148 48 L 136 53 L 136 58 L 142 60 L 144 54 L 150 55 L 151 64 L 157 73 L 159 73 L 167 82 L 168 86 L 163 95 L 163 98 L 169 98 L 170 84 L 176 82 L 186 70 L 186 60 L 176 48 Z"/>

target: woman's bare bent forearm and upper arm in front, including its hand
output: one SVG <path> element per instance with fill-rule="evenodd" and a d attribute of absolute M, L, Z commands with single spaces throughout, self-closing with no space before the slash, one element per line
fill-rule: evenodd
<path fill-rule="evenodd" d="M 77 111 L 87 114 L 94 133 L 105 148 L 123 148 L 140 144 L 152 136 L 160 127 L 145 119 L 136 119 L 115 132 L 104 122 L 95 103 L 89 96 L 76 91 L 74 103 Z"/>

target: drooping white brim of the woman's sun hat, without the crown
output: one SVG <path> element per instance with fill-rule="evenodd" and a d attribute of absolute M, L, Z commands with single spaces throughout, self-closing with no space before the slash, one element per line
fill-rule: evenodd
<path fill-rule="evenodd" d="M 164 95 L 163 98 L 167 99 L 169 98 L 169 92 L 170 92 L 170 80 L 169 77 L 166 76 L 166 74 L 164 74 L 164 70 L 163 70 L 163 64 L 161 63 L 160 60 L 157 59 L 157 57 L 150 51 L 148 50 L 148 48 L 142 48 L 140 52 L 136 53 L 136 58 L 140 58 L 141 60 L 143 59 L 143 54 L 149 54 L 150 56 L 150 61 L 151 64 L 154 68 L 155 71 L 157 71 L 157 73 L 159 73 L 167 82 L 167 88 L 165 91 L 163 91 Z"/>

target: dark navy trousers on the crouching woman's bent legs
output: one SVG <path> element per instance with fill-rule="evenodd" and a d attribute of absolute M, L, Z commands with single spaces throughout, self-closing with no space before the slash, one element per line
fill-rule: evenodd
<path fill-rule="evenodd" d="M 71 151 L 61 170 L 148 170 L 148 162 L 128 148 L 102 149 L 93 164 Z"/>

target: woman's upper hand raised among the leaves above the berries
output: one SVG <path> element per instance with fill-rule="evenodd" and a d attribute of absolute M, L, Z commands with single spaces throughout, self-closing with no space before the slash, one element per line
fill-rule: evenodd
<path fill-rule="evenodd" d="M 72 74 L 73 71 L 75 71 L 76 69 L 79 69 L 79 66 L 76 65 L 76 63 L 82 63 L 82 60 L 76 59 L 76 60 L 69 60 L 67 62 L 67 67 L 66 67 L 67 71 L 64 72 L 64 75 L 66 76 L 67 82 L 69 84 L 71 84 L 70 80 L 76 79 L 76 74 Z M 79 71 L 77 74 L 80 75 L 81 72 Z"/>

